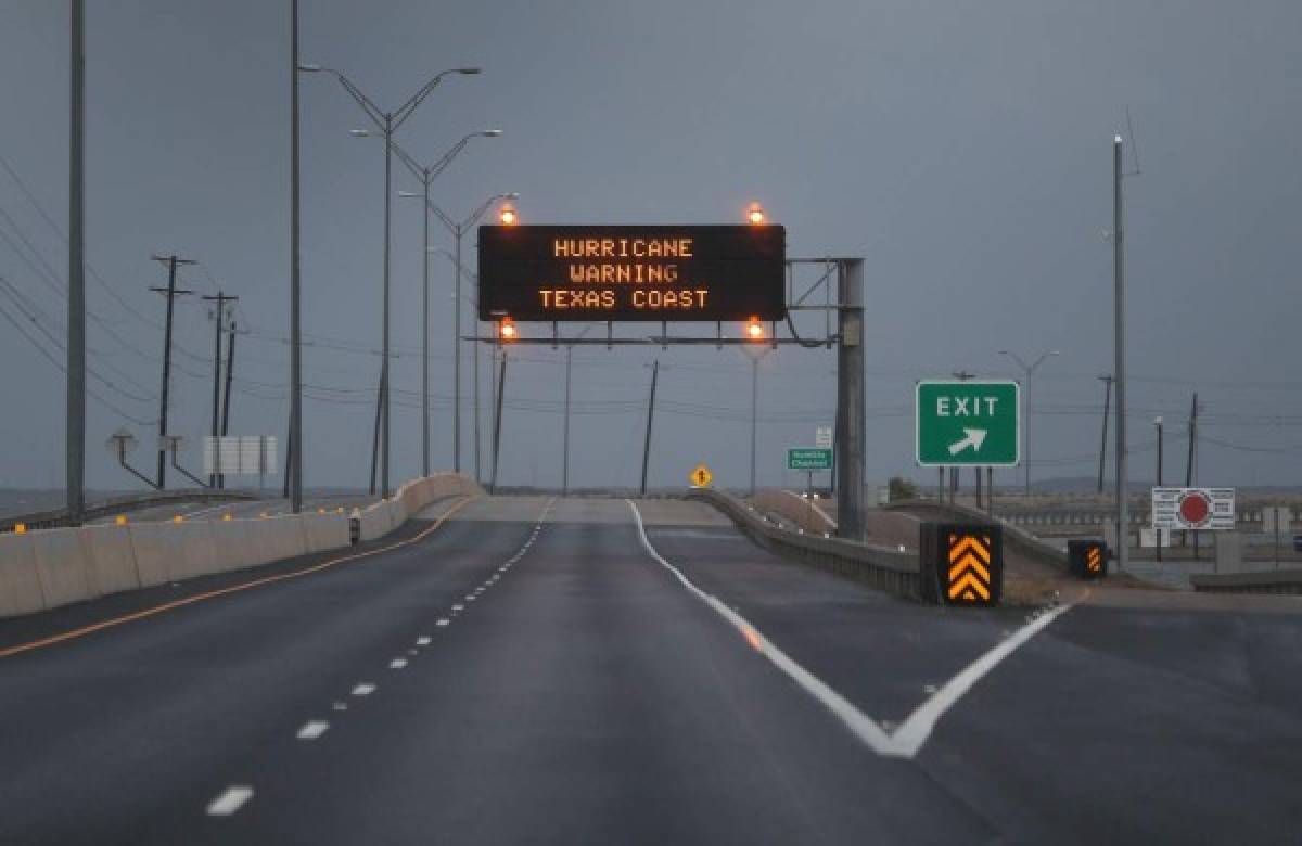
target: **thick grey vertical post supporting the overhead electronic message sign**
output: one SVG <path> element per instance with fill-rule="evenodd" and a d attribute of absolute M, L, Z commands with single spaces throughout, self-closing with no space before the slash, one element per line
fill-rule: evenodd
<path fill-rule="evenodd" d="M 863 259 L 837 273 L 836 509 L 838 538 L 863 540 Z"/>

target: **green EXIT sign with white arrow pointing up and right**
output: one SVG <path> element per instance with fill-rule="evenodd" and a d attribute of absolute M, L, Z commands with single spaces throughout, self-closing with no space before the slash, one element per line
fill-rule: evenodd
<path fill-rule="evenodd" d="M 1012 467 L 1021 461 L 1016 381 L 919 381 L 914 419 L 915 461 L 923 467 Z"/>

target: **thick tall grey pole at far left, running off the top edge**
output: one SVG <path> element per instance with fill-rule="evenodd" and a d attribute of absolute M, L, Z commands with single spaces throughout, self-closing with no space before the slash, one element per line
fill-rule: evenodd
<path fill-rule="evenodd" d="M 72 115 L 68 143 L 68 424 L 65 500 L 73 526 L 86 515 L 86 4 L 72 1 Z"/>

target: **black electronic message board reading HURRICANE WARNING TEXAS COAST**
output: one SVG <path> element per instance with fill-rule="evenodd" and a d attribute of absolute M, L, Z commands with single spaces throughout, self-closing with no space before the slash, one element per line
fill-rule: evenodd
<path fill-rule="evenodd" d="M 780 320 L 783 226 L 480 226 L 479 319 Z"/>

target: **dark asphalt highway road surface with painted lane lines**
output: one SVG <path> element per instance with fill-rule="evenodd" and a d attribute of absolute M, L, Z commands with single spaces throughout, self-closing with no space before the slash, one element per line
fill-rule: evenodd
<path fill-rule="evenodd" d="M 681 501 L 445 501 L 359 552 L 0 621 L 0 842 L 1302 830 L 1295 597 L 930 608 Z"/>

